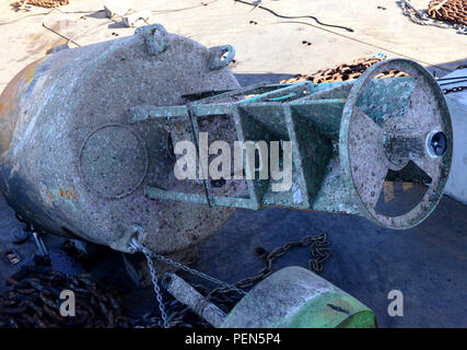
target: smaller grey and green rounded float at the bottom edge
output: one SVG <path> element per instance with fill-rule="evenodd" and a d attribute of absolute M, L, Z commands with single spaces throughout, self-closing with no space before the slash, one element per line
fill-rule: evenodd
<path fill-rule="evenodd" d="M 222 328 L 374 328 L 374 313 L 336 285 L 301 267 L 272 273 L 248 292 Z"/>

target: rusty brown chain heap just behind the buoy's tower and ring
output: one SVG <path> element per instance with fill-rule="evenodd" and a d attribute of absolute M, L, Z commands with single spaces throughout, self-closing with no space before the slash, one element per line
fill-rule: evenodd
<path fill-rule="evenodd" d="M 385 58 L 380 58 L 380 57 L 374 57 L 374 58 L 361 57 L 355 59 L 351 63 L 341 63 L 332 68 L 325 68 L 325 69 L 318 70 L 313 74 L 304 74 L 304 75 L 295 74 L 293 78 L 282 80 L 280 83 L 287 84 L 287 83 L 297 83 L 303 81 L 312 81 L 314 84 L 320 84 L 320 83 L 332 83 L 332 82 L 359 79 L 366 69 L 369 69 L 371 66 L 384 59 Z M 397 78 L 397 77 L 407 77 L 407 74 L 404 72 L 399 72 L 397 70 L 390 70 L 390 71 L 377 74 L 375 78 L 378 79 L 378 78 Z"/>

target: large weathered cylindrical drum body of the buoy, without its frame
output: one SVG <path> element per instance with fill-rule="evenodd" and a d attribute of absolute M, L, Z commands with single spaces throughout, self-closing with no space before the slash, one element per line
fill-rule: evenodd
<path fill-rule="evenodd" d="M 144 184 L 182 186 L 174 185 L 172 140 L 164 124 L 127 122 L 131 106 L 178 105 L 185 94 L 238 88 L 227 68 L 210 67 L 212 56 L 153 25 L 26 67 L 0 96 L 0 183 L 9 205 L 39 230 L 122 252 L 131 250 L 135 225 L 157 253 L 212 234 L 233 209 L 148 199 Z M 202 190 L 202 184 L 184 186 Z"/>

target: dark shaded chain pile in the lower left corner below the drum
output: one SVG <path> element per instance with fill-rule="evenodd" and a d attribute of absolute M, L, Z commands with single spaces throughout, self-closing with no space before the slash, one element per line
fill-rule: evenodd
<path fill-rule="evenodd" d="M 86 276 L 72 277 L 51 269 L 23 268 L 7 280 L 0 295 L 0 328 L 130 328 L 113 291 Z M 75 295 L 75 316 L 60 315 L 60 293 Z"/>

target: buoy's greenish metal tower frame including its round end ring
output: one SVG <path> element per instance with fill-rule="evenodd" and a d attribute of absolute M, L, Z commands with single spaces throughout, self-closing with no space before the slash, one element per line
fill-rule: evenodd
<path fill-rule="evenodd" d="M 389 69 L 410 72 L 410 77 L 372 79 L 378 72 Z M 197 140 L 198 118 L 224 115 L 234 119 L 238 141 L 292 141 L 293 185 L 288 191 L 275 192 L 271 190 L 271 180 L 258 179 L 256 176 L 254 180 L 247 180 L 249 199 L 215 198 L 214 200 L 209 182 L 206 180 L 206 198 L 203 199 L 199 195 L 164 194 L 161 189 L 148 189 L 152 198 L 171 198 L 236 208 L 285 207 L 364 214 L 378 224 L 405 229 L 421 222 L 434 208 L 451 166 L 451 120 L 439 90 L 434 79 L 421 66 L 397 59 L 375 65 L 357 82 L 258 84 L 219 93 L 210 91 L 189 96 L 191 101 L 187 105 L 137 106 L 129 110 L 128 117 L 130 122 L 172 117 L 188 118 L 192 125 L 192 137 Z M 423 106 L 417 100 L 420 94 L 422 100 L 425 96 L 433 96 L 434 103 L 425 101 L 428 106 Z M 197 96 L 198 100 L 196 100 Z M 413 110 L 415 105 L 417 105 L 417 110 Z M 377 152 L 363 155 L 366 152 L 363 147 L 363 149 L 355 149 L 355 154 L 349 153 L 349 127 L 351 124 L 358 125 L 359 122 L 359 118 L 354 116 L 355 113 L 361 113 L 362 118 L 367 117 L 367 120 L 372 120 L 367 122 L 374 122 L 374 125 L 359 127 L 362 135 L 365 135 L 366 131 L 372 135 L 371 130 L 365 130 L 366 127 L 375 128 L 377 135 L 373 136 L 372 142 L 377 142 L 377 144 L 375 143 Z M 412 119 L 437 120 L 437 124 L 433 124 L 433 128 L 442 129 L 447 136 L 450 145 L 446 154 L 442 156 L 443 171 L 437 174 L 440 176 L 435 176 L 436 180 L 433 183 L 436 183 L 437 187 L 434 195 L 429 196 L 429 205 L 427 206 L 425 200 L 423 206 L 418 207 L 420 214 L 401 215 L 400 218 L 377 215 L 373 207 L 371 210 L 366 209 L 370 205 L 362 199 L 362 188 L 357 188 L 354 180 L 355 176 L 366 176 L 366 174 L 352 173 L 350 159 L 360 158 L 360 166 L 367 172 L 376 166 L 387 173 L 388 170 L 395 170 L 395 165 L 389 164 L 387 159 L 400 158 L 404 163 L 408 159 L 407 154 L 410 153 L 408 148 L 413 150 L 413 147 L 417 145 L 424 150 L 423 138 L 425 136 L 419 135 L 406 137 L 407 140 L 411 139 L 407 144 L 405 141 L 398 142 L 398 144 L 402 144 L 402 149 L 406 145 L 407 154 L 387 155 L 387 159 L 380 154 L 388 150 L 388 148 L 384 149 L 389 132 L 388 120 L 393 118 L 400 120 L 407 114 L 412 114 Z M 362 119 L 361 122 L 366 121 Z M 406 127 L 410 128 L 410 126 Z M 397 130 L 399 133 L 401 132 L 401 130 Z M 420 156 L 422 155 L 425 154 Z M 386 176 L 386 173 L 377 175 L 383 177 L 383 175 Z M 371 177 L 371 175 L 369 176 Z M 364 183 L 364 179 L 361 182 Z M 370 182 L 374 186 L 371 188 L 366 186 L 365 190 L 371 192 L 371 197 L 374 197 L 382 190 L 383 182 L 384 178 L 378 178 L 375 184 Z M 374 203 L 371 202 L 371 205 Z"/>

